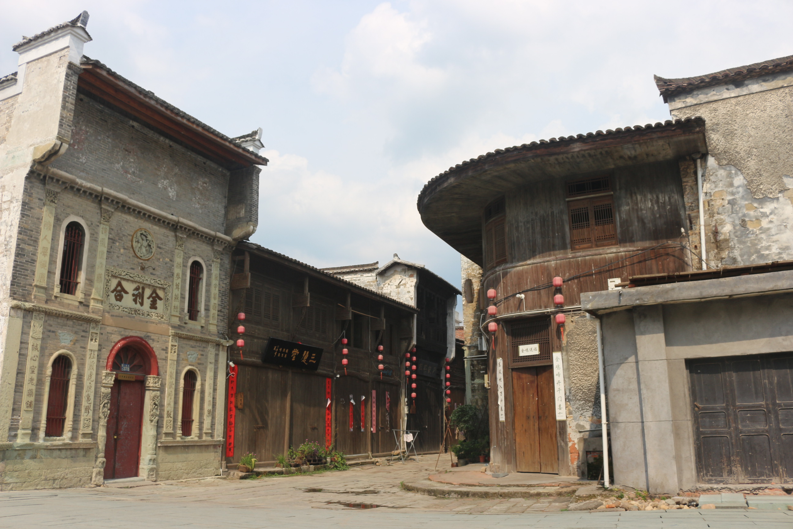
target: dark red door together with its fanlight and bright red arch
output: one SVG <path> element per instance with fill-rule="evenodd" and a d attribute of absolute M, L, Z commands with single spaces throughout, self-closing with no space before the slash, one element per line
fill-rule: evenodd
<path fill-rule="evenodd" d="M 140 466 L 145 376 L 157 374 L 157 360 L 142 338 L 129 336 L 110 350 L 107 370 L 116 373 L 110 390 L 105 440 L 105 479 L 136 477 Z"/>

